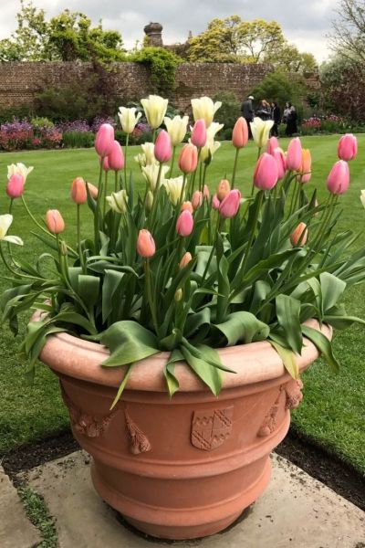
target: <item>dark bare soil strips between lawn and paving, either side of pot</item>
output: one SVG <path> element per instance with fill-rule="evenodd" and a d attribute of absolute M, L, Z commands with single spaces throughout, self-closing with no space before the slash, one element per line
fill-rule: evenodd
<path fill-rule="evenodd" d="M 72 437 L 70 430 L 67 430 L 35 444 L 16 448 L 6 453 L 0 461 L 5 473 L 16 484 L 18 472 L 32 469 L 48 460 L 65 457 L 78 448 L 78 443 Z M 276 448 L 276 453 L 365 511 L 364 475 L 348 463 L 329 455 L 313 440 L 301 437 L 291 429 L 284 441 Z"/>

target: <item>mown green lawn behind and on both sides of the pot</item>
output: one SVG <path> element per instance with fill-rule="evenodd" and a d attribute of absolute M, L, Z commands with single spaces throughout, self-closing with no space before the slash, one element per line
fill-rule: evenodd
<path fill-rule="evenodd" d="M 338 136 L 306 137 L 303 145 L 310 148 L 313 157 L 313 176 L 308 189 L 318 186 L 318 199 L 326 195 L 325 181 L 329 168 L 336 161 Z M 283 140 L 283 147 L 287 141 Z M 343 196 L 342 228 L 362 229 L 365 211 L 360 204 L 360 190 L 365 188 L 365 135 L 359 135 L 360 157 L 350 164 L 351 185 Z M 130 151 L 137 153 L 137 147 Z M 243 194 L 251 187 L 256 149 L 253 144 L 240 156 L 237 185 Z M 225 142 L 214 156 L 208 170 L 208 183 L 213 189 L 220 178 L 230 177 L 234 150 Z M 34 165 L 35 171 L 26 183 L 26 198 L 32 210 L 44 215 L 48 208 L 58 208 L 67 223 L 69 240 L 75 239 L 75 209 L 69 199 L 69 186 L 77 175 L 95 182 L 98 163 L 93 150 L 36 151 L 0 154 L 0 174 L 5 182 L 6 165 L 23 162 Z M 133 163 L 134 164 L 134 163 Z M 138 167 L 134 167 L 136 178 Z M 141 181 L 141 177 L 139 179 Z M 0 213 L 7 211 L 5 193 L 0 196 Z M 89 210 L 85 207 L 85 216 Z M 32 237 L 31 226 L 20 202 L 15 207 L 16 220 L 10 231 L 24 238 L 25 248 L 21 253 L 28 259 L 35 258 L 40 244 Z M 347 308 L 351 314 L 365 317 L 364 286 L 358 286 L 347 295 Z M 347 332 L 336 334 L 335 352 L 339 357 L 341 371 L 332 374 L 321 360 L 303 375 L 305 398 L 300 408 L 293 413 L 294 426 L 332 451 L 353 463 L 365 472 L 365 345 L 364 331 L 352 327 Z M 14 340 L 5 326 L 0 337 L 1 406 L 0 406 L 0 453 L 16 445 L 36 440 L 63 429 L 68 425 L 68 416 L 58 392 L 57 378 L 39 366 L 34 386 L 26 386 L 23 364 L 19 362 Z"/>

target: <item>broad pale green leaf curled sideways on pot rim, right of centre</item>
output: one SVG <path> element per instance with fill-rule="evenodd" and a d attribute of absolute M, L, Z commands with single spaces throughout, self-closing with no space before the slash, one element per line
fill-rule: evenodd
<path fill-rule="evenodd" d="M 212 334 L 217 330 L 224 335 L 226 346 L 235 346 L 238 342 L 264 341 L 270 328 L 263 321 L 257 320 L 254 314 L 246 311 L 232 312 L 227 321 L 212 326 Z"/>

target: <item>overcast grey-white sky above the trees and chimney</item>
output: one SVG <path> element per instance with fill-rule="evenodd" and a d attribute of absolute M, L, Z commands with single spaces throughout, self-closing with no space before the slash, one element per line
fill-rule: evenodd
<path fill-rule="evenodd" d="M 16 27 L 16 0 L 0 0 L 0 37 Z M 163 26 L 165 44 L 184 42 L 189 30 L 196 35 L 214 17 L 238 15 L 245 20 L 276 20 L 287 39 L 319 61 L 328 57 L 327 38 L 335 0 L 35 0 L 37 7 L 54 16 L 67 8 L 86 13 L 94 22 L 101 17 L 105 28 L 118 29 L 126 47 L 143 38 L 143 26 L 157 21 Z"/>

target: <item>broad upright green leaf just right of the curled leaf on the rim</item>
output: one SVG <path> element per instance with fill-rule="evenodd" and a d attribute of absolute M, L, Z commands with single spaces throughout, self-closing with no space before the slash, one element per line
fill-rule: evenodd
<path fill-rule="evenodd" d="M 300 354 L 303 347 L 303 337 L 300 328 L 300 302 L 289 295 L 276 297 L 276 316 L 279 326 L 283 329 L 288 346 L 293 352 Z"/>

